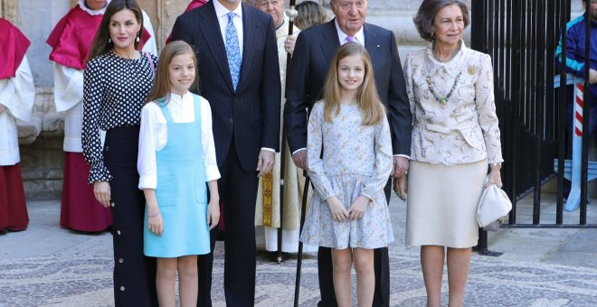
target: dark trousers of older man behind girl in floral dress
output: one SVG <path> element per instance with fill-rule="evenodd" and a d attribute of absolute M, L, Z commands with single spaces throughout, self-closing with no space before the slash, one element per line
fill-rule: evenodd
<path fill-rule="evenodd" d="M 385 199 L 390 203 L 392 179 L 384 187 Z M 374 249 L 375 292 L 374 307 L 390 306 L 390 256 L 388 247 Z M 336 307 L 336 293 L 334 292 L 334 268 L 332 265 L 332 249 L 319 247 L 317 251 L 317 273 L 319 278 L 319 293 L 321 301 L 319 307 Z"/>

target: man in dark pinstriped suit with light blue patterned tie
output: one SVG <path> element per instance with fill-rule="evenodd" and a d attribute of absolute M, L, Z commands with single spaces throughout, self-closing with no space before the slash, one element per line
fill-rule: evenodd
<path fill-rule="evenodd" d="M 228 306 L 255 297 L 258 176 L 280 148 L 280 70 L 270 15 L 241 0 L 212 0 L 176 19 L 172 41 L 194 47 L 209 100 L 224 203 L 224 291 Z M 257 169 L 257 172 L 255 171 Z M 214 236 L 212 233 L 212 251 Z M 211 306 L 213 254 L 199 256 L 199 306 Z"/>

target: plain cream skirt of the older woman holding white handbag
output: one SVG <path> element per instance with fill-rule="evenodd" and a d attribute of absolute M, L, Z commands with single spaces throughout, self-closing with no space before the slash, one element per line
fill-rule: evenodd
<path fill-rule="evenodd" d="M 406 245 L 476 246 L 477 204 L 487 172 L 487 160 L 450 166 L 411 161 Z"/>

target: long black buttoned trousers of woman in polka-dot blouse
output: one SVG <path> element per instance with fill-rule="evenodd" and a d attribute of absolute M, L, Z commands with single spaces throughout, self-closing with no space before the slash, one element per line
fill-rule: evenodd
<path fill-rule="evenodd" d="M 104 163 L 114 204 L 114 302 L 116 306 L 157 306 L 156 258 L 143 255 L 145 197 L 138 189 L 139 126 L 112 128 L 106 135 Z"/>

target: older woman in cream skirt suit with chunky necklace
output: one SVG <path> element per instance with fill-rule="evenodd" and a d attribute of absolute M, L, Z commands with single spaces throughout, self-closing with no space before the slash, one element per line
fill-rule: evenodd
<path fill-rule="evenodd" d="M 427 306 L 441 306 L 445 258 L 449 305 L 462 305 L 488 171 L 488 184 L 502 185 L 491 59 L 462 41 L 469 21 L 460 0 L 424 0 L 414 23 L 431 43 L 404 65 L 413 125 L 406 245 L 421 246 Z"/>

